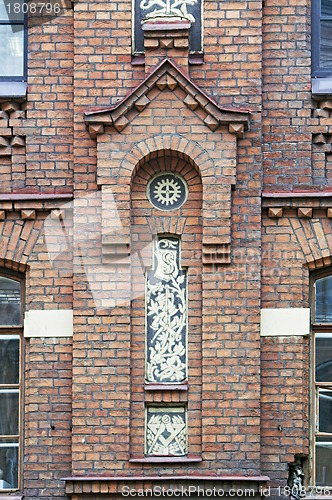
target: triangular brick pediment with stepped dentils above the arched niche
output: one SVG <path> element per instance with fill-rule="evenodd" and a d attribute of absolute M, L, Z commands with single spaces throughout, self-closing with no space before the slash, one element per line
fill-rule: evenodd
<path fill-rule="evenodd" d="M 201 108 L 203 113 L 200 112 L 197 116 L 210 130 L 228 124 L 230 132 L 241 136 L 244 130 L 248 129 L 250 116 L 248 109 L 220 107 L 171 59 L 164 59 L 124 99 L 113 106 L 93 108 L 84 113 L 90 135 L 95 137 L 104 133 L 105 126 L 113 126 L 121 132 L 134 117 L 149 106 L 151 100 L 148 95 L 154 87 L 160 91 L 165 89 L 175 91 L 179 87 L 185 93 L 184 104 L 192 111 Z"/>

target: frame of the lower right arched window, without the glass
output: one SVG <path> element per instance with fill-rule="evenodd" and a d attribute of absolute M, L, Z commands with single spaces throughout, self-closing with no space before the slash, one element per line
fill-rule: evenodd
<path fill-rule="evenodd" d="M 319 382 L 316 381 L 316 335 L 317 334 L 330 334 L 332 335 L 332 322 L 331 323 L 317 323 L 316 318 L 316 282 L 321 278 L 326 278 L 328 276 L 332 277 L 332 268 L 324 268 L 316 271 L 312 274 L 310 280 L 310 308 L 311 308 L 311 411 L 310 411 L 310 428 L 311 428 L 311 484 L 315 488 L 331 488 L 331 485 L 317 485 L 316 481 L 316 438 L 317 437 L 328 437 L 331 439 L 332 444 L 332 432 L 320 432 L 319 431 L 319 392 L 321 389 L 332 389 L 331 382 Z M 332 339 L 331 339 L 332 344 Z"/>

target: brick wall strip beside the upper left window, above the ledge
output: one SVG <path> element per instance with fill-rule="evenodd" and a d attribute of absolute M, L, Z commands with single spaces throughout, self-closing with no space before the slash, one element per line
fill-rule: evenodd
<path fill-rule="evenodd" d="M 73 177 L 73 12 L 29 20 L 25 188 L 71 192 Z"/>

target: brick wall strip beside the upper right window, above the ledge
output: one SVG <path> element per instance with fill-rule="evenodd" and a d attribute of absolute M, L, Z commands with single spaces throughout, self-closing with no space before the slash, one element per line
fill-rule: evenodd
<path fill-rule="evenodd" d="M 264 2 L 263 164 L 271 190 L 311 179 L 310 2 Z"/>

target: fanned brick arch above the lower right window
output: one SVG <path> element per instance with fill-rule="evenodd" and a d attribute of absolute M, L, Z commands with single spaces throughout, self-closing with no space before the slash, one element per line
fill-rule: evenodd
<path fill-rule="evenodd" d="M 332 265 L 331 219 L 290 219 L 310 271 Z"/>

